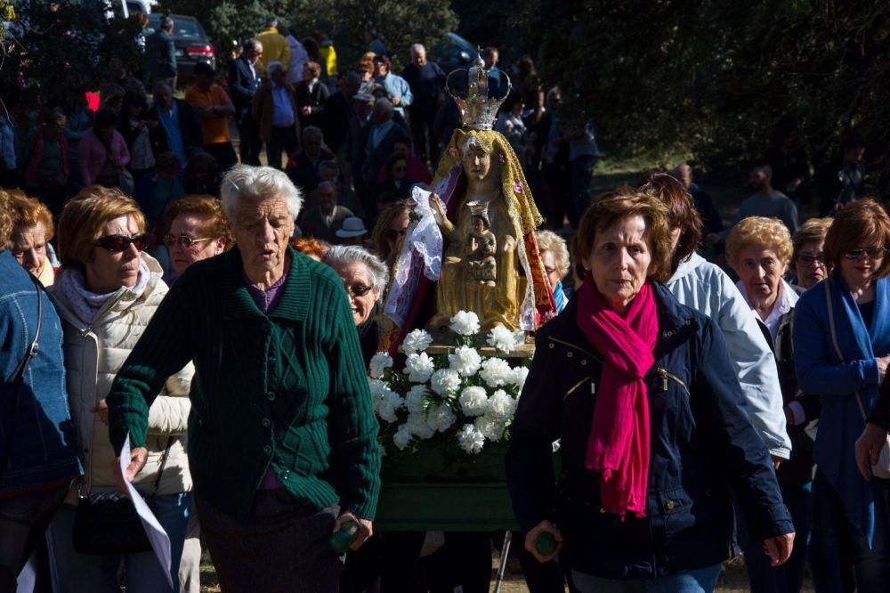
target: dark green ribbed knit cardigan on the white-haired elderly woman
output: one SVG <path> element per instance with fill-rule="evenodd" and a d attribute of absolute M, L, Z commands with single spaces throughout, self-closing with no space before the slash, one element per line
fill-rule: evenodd
<path fill-rule="evenodd" d="M 190 266 L 158 307 L 108 397 L 111 443 L 145 444 L 164 380 L 195 363 L 189 464 L 195 490 L 247 520 L 271 467 L 310 508 L 339 501 L 373 519 L 380 491 L 377 422 L 343 284 L 292 258 L 264 314 L 247 292 L 238 248 Z"/>

